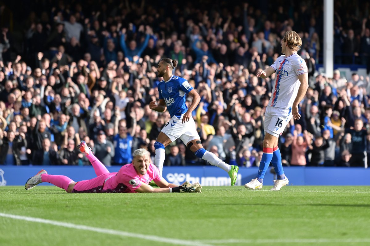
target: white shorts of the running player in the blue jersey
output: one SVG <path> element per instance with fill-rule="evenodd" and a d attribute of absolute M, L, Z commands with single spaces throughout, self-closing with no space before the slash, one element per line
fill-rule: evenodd
<path fill-rule="evenodd" d="M 185 113 L 184 113 L 185 114 Z M 181 118 L 177 118 L 175 115 L 167 122 L 164 127 L 162 128 L 161 132 L 166 134 L 172 142 L 176 139 L 180 138 L 185 145 L 188 142 L 194 139 L 201 139 L 196 131 L 196 126 L 194 119 L 190 117 L 189 121 L 182 122 L 182 117 L 184 114 L 181 115 Z"/>

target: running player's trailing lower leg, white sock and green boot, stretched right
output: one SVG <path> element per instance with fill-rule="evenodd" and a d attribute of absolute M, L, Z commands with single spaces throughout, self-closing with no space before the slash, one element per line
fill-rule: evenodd
<path fill-rule="evenodd" d="M 199 141 L 200 142 L 200 141 Z M 231 166 L 225 162 L 223 162 L 220 158 L 218 158 L 212 152 L 205 150 L 204 148 L 200 148 L 195 152 L 195 155 L 203 160 L 206 160 L 212 166 L 220 167 L 225 170 L 231 179 L 231 186 L 234 186 L 236 183 L 236 177 L 238 176 L 238 166 Z"/>

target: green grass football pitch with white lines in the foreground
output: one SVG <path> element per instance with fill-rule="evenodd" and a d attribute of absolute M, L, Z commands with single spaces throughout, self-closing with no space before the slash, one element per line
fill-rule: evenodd
<path fill-rule="evenodd" d="M 370 187 L 68 194 L 0 187 L 0 245 L 370 245 Z"/>

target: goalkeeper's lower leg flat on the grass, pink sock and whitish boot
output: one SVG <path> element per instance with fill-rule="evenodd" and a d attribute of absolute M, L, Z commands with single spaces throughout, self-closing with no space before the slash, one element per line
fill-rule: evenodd
<path fill-rule="evenodd" d="M 74 181 L 68 178 L 67 176 L 50 175 L 47 173 L 47 171 L 41 170 L 35 176 L 30 177 L 27 180 L 26 184 L 24 185 L 24 188 L 26 188 L 26 190 L 30 190 L 34 186 L 37 186 L 38 184 L 43 182 L 54 184 L 54 186 L 58 186 L 59 188 L 62 188 L 65 191 L 68 191 L 68 186 L 71 183 L 74 183 Z"/>

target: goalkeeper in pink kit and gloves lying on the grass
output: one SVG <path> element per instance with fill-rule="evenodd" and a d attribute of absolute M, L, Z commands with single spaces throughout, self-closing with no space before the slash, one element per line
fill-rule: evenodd
<path fill-rule="evenodd" d="M 67 176 L 50 175 L 47 171 L 41 170 L 27 180 L 24 185 L 26 190 L 42 182 L 49 182 L 68 193 L 202 192 L 202 186 L 199 183 L 185 182 L 181 186 L 168 183 L 161 177 L 157 167 L 149 162 L 149 152 L 145 149 L 135 150 L 131 164 L 122 166 L 118 173 L 110 173 L 84 141 L 81 141 L 78 148 L 90 160 L 97 175 L 96 178 L 74 182 Z M 160 188 L 149 186 L 148 183 L 151 180 Z"/>

